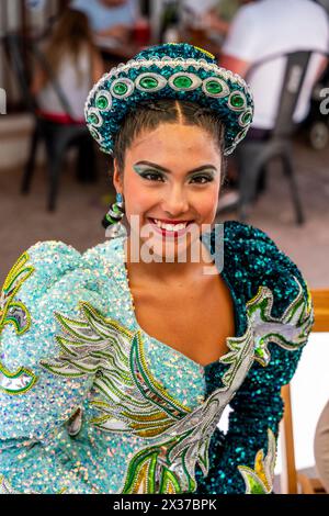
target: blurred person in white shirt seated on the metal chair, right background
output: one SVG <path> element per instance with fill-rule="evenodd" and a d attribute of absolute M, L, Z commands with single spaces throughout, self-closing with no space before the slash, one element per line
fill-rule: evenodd
<path fill-rule="evenodd" d="M 308 114 L 311 90 L 324 71 L 328 53 L 328 19 L 313 0 L 241 1 L 222 48 L 220 66 L 246 78 L 254 97 L 254 119 L 248 139 L 264 141 L 274 127 L 285 71 L 285 57 L 296 51 L 315 51 L 304 80 L 294 121 Z M 316 52 L 318 51 L 318 52 Z M 277 58 L 259 63 L 277 55 Z M 259 189 L 264 188 L 264 176 Z M 236 192 L 237 194 L 237 192 Z"/>

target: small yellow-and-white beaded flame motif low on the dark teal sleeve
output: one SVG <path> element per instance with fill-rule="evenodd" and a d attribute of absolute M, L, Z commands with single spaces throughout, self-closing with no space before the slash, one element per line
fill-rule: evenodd
<path fill-rule="evenodd" d="M 254 469 L 238 465 L 243 476 L 246 494 L 270 494 L 273 490 L 274 468 L 276 459 L 276 442 L 273 431 L 268 429 L 268 455 L 259 450 L 254 459 Z"/>

